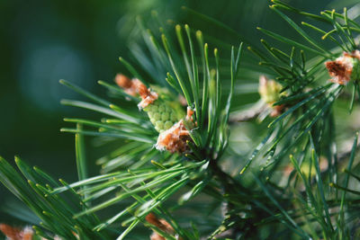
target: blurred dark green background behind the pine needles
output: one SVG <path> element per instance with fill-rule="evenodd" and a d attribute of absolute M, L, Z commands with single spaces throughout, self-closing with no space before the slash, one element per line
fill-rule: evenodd
<path fill-rule="evenodd" d="M 347 2 L 291 1 L 312 13 Z M 0 156 L 10 161 L 21 156 L 56 178 L 76 181 L 74 137 L 59 129 L 66 126 L 64 117 L 92 116 L 89 111 L 60 105 L 62 98 L 81 97 L 58 84 L 59 79 L 104 95 L 96 81 L 112 82 L 123 71 L 118 58 L 131 59 L 129 45 L 138 40 L 135 17 L 140 15 L 146 22 L 152 10 L 164 24 L 167 19 L 186 22 L 230 44 L 237 44 L 238 39 L 218 36 L 216 29 L 197 22 L 181 6 L 225 22 L 253 44 L 262 36 L 258 25 L 292 35 L 268 4 L 265 0 L 0 1 Z M 93 152 L 90 160 L 96 158 Z M 7 208 L 13 199 L 0 185 L 0 206 Z M 0 222 L 13 221 L 0 212 Z"/>

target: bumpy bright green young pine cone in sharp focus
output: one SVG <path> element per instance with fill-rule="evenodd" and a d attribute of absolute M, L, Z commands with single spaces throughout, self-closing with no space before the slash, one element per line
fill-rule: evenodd
<path fill-rule="evenodd" d="M 144 111 L 148 112 L 148 118 L 158 132 L 170 129 L 179 120 L 177 112 L 161 99 L 149 104 Z"/>

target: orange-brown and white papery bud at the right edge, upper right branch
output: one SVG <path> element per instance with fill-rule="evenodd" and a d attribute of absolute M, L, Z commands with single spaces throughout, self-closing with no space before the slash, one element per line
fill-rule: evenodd
<path fill-rule="evenodd" d="M 325 66 L 332 77 L 329 81 L 333 83 L 345 85 L 351 80 L 357 81 L 360 79 L 360 51 L 344 52 L 343 56 L 326 62 Z"/>

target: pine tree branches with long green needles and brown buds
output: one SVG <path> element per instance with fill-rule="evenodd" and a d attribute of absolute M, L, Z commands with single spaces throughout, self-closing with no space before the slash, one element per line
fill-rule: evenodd
<path fill-rule="evenodd" d="M 120 58 L 129 77 L 98 82 L 112 99 L 60 80 L 89 99 L 62 104 L 103 114 L 66 118 L 74 128 L 61 129 L 75 134 L 78 182 L 56 181 L 16 156 L 19 173 L 0 157 L 0 181 L 40 218 L 33 230 L 6 224 L 0 230 L 20 239 L 359 238 L 358 133 L 338 112 L 347 104 L 351 116 L 359 104 L 360 24 L 346 8 L 313 14 L 279 0 L 270 8 L 298 36 L 258 30 L 289 52 L 245 38 L 228 49 L 187 24 L 157 34 L 139 18 L 146 47 L 138 46 L 137 64 Z M 289 13 L 307 22 L 293 22 Z M 236 89 L 247 74 L 259 77 L 260 99 L 239 110 Z M 244 121 L 260 129 L 250 153 L 238 153 L 229 138 Z M 351 147 L 338 152 L 338 141 L 348 142 L 337 141 L 342 130 L 352 136 Z M 86 136 L 112 146 L 95 176 L 86 170 Z M 231 161 L 241 167 L 229 171 Z"/>

